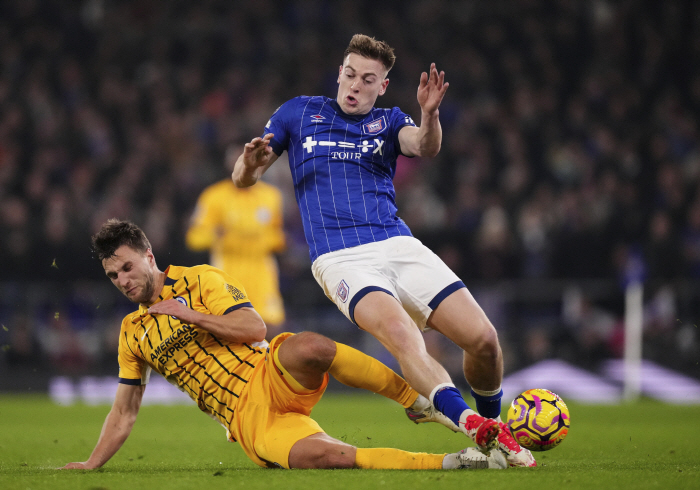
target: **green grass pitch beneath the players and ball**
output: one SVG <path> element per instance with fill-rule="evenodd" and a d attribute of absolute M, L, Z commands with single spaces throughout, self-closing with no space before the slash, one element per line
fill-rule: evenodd
<path fill-rule="evenodd" d="M 359 393 L 359 392 L 358 392 Z M 700 409 L 644 400 L 621 406 L 569 403 L 571 431 L 537 454 L 537 468 L 505 471 L 268 470 L 255 466 L 194 406 L 145 406 L 104 468 L 57 471 L 84 461 L 109 407 L 70 407 L 42 396 L 0 396 L 0 488 L 700 488 Z M 464 436 L 416 426 L 378 395 L 328 393 L 313 413 L 334 437 L 361 447 L 453 452 Z"/>

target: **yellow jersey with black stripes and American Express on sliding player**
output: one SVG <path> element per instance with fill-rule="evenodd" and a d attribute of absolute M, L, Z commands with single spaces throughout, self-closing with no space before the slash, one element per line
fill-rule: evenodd
<path fill-rule="evenodd" d="M 209 265 L 170 266 L 158 301 L 175 299 L 193 310 L 225 315 L 252 306 L 243 286 Z M 199 408 L 228 427 L 241 390 L 265 350 L 229 344 L 170 315 L 152 315 L 140 306 L 122 321 L 119 382 L 141 385 L 151 369 L 187 393 Z"/>

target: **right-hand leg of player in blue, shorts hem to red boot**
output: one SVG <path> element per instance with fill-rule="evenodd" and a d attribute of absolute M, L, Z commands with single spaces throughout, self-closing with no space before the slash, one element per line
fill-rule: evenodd
<path fill-rule="evenodd" d="M 511 466 L 536 466 L 532 453 L 520 447 L 508 427 L 500 421 L 503 397 L 501 347 L 496 329 L 469 291 L 462 288 L 445 298 L 430 315 L 428 325 L 464 350 L 464 376 L 472 387 L 477 410 L 484 417 L 498 419 L 496 441 L 499 449 L 506 453 L 508 463 Z M 434 400 L 434 403 L 438 409 L 442 406 L 440 400 Z M 469 412 L 461 414 L 460 421 L 467 422 L 470 415 Z"/>

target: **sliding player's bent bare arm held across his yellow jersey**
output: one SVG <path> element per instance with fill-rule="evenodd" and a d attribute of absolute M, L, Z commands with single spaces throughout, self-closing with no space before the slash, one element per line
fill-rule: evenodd
<path fill-rule="evenodd" d="M 183 323 L 191 323 L 231 343 L 265 340 L 267 327 L 253 308 L 239 308 L 226 315 L 208 315 L 192 310 L 177 300 L 168 299 L 148 309 L 154 315 L 172 315 Z"/>

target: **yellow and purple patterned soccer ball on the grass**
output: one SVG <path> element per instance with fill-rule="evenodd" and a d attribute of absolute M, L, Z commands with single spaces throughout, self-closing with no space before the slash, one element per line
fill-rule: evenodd
<path fill-rule="evenodd" d="M 544 389 L 527 390 L 510 404 L 506 424 L 522 447 L 530 451 L 548 451 L 569 433 L 569 408 L 556 393 Z"/>

